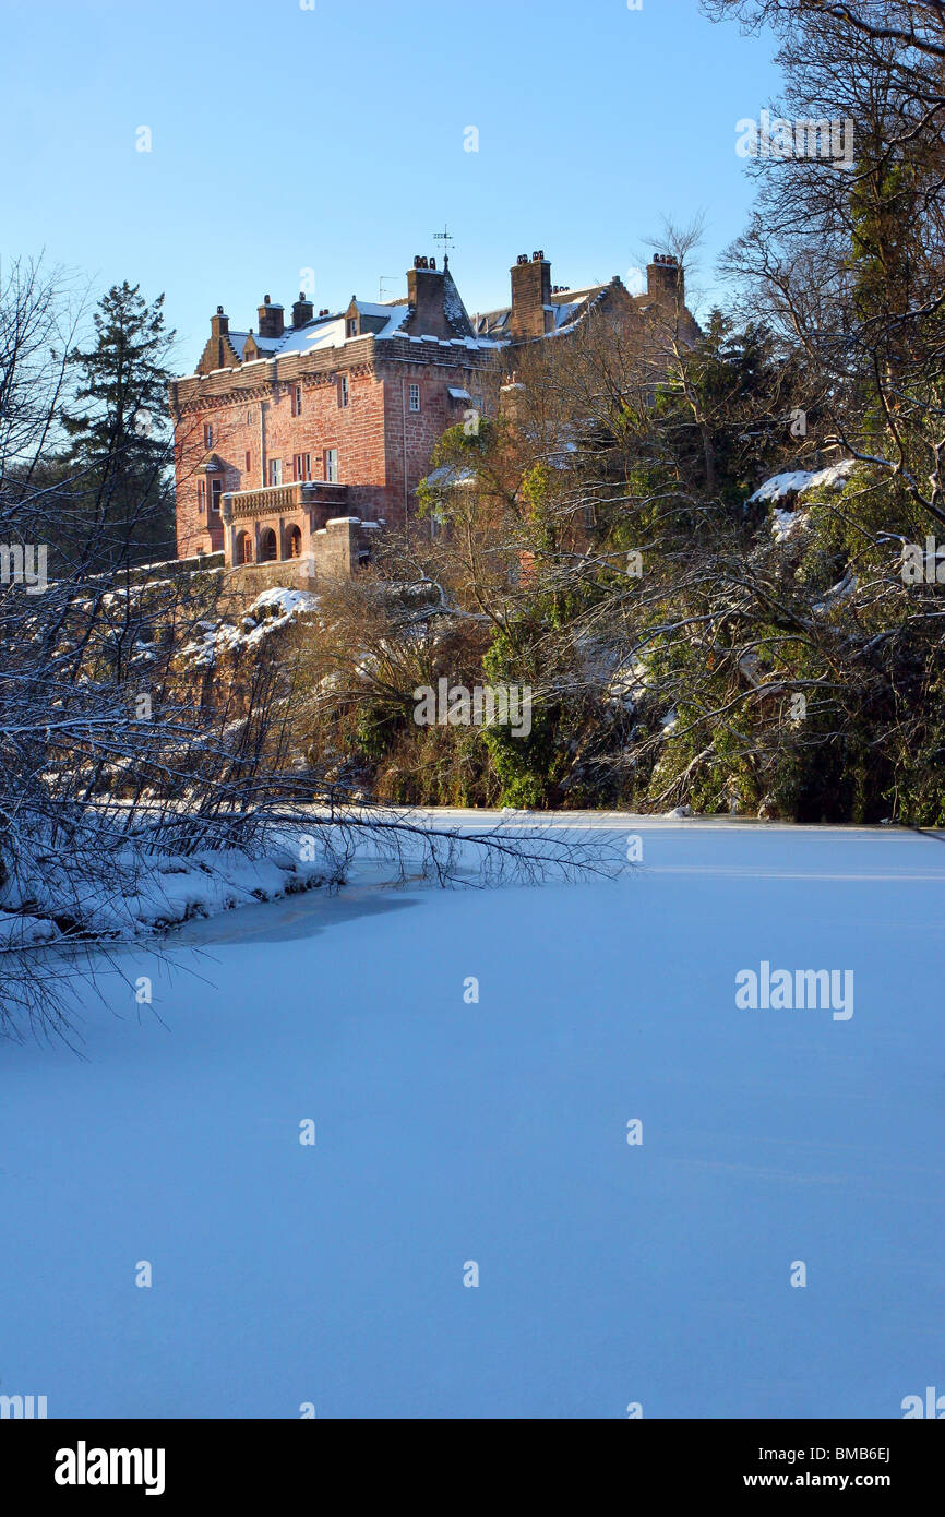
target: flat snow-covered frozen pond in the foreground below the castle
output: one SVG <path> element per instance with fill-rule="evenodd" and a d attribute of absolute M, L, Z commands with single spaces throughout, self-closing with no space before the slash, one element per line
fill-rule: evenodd
<path fill-rule="evenodd" d="M 124 953 L 83 1060 L 0 1047 L 0 1394 L 895 1418 L 945 1388 L 945 846 L 581 825 L 636 872 L 249 906 L 170 974 Z M 763 962 L 852 971 L 852 1015 L 740 1009 Z"/>

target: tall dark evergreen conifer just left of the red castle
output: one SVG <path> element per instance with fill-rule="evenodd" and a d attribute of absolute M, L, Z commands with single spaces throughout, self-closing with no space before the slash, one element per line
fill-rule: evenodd
<path fill-rule="evenodd" d="M 167 385 L 174 332 L 140 285 L 112 285 L 93 316 L 96 346 L 70 353 L 79 384 L 64 426 L 79 510 L 96 526 L 96 563 L 173 554 L 171 431 Z"/>

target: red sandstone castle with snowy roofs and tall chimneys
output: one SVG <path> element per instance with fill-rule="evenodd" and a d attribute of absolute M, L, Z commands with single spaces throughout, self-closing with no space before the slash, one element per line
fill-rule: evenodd
<path fill-rule="evenodd" d="M 381 526 L 411 517 L 446 428 L 498 404 L 522 343 L 566 340 L 592 308 L 629 316 L 677 302 L 681 282 L 657 255 L 645 296 L 617 278 L 552 288 L 545 255 L 523 255 L 511 305 L 470 319 L 449 259 L 414 258 L 407 297 L 390 303 L 352 297 L 316 314 L 299 296 L 285 326 L 265 296 L 255 332 L 231 331 L 217 306 L 196 373 L 170 388 L 179 557 L 223 551 L 232 567 L 300 560 L 312 578 L 350 573 Z"/>

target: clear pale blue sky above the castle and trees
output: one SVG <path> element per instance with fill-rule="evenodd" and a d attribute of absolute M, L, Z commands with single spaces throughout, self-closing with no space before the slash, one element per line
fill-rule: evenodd
<path fill-rule="evenodd" d="M 771 38 L 696 0 L 302 3 L 8 9 L 3 259 L 46 250 L 96 297 L 164 290 L 179 372 L 217 303 L 255 326 L 302 270 L 316 306 L 376 300 L 382 276 L 393 299 L 444 225 L 470 311 L 507 302 L 520 252 L 555 284 L 626 278 L 663 215 L 698 211 L 713 291 L 752 199 L 734 124 L 778 91 Z"/>

